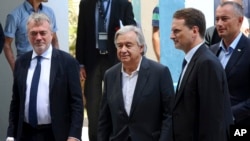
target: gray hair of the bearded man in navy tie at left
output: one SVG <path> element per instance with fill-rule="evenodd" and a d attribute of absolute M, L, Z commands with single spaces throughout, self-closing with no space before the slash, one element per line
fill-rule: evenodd
<path fill-rule="evenodd" d="M 50 25 L 50 30 L 52 31 L 51 21 L 50 21 L 49 17 L 44 13 L 35 13 L 35 12 L 32 13 L 28 18 L 26 29 L 28 29 L 28 25 L 31 21 L 34 21 L 38 25 L 40 25 L 44 21 L 47 21 Z"/>

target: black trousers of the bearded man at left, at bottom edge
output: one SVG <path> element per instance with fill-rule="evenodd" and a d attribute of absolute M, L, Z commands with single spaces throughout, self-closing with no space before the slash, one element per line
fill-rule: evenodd
<path fill-rule="evenodd" d="M 55 141 L 51 124 L 32 127 L 23 123 L 23 130 L 20 141 Z"/>

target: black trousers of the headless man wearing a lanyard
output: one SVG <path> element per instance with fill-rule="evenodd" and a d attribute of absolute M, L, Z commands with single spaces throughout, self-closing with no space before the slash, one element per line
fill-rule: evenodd
<path fill-rule="evenodd" d="M 97 141 L 98 116 L 102 98 L 102 82 L 105 71 L 111 66 L 112 64 L 108 56 L 99 54 L 94 69 L 87 71 L 84 95 L 86 97 L 88 115 L 89 141 Z"/>

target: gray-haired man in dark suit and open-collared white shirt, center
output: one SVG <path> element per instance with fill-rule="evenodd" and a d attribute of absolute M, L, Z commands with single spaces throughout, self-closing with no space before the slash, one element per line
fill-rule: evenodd
<path fill-rule="evenodd" d="M 143 57 L 145 41 L 135 26 L 118 30 L 115 44 L 121 63 L 105 73 L 98 141 L 171 141 L 168 68 Z"/>

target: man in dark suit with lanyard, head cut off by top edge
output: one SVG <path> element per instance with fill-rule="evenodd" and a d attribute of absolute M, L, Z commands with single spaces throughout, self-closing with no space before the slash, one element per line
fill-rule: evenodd
<path fill-rule="evenodd" d="M 99 22 L 100 21 L 100 22 Z M 76 59 L 85 80 L 84 95 L 89 139 L 97 139 L 97 122 L 104 72 L 116 64 L 115 32 L 122 25 L 135 25 L 132 5 L 127 0 L 82 0 L 78 18 Z"/>

